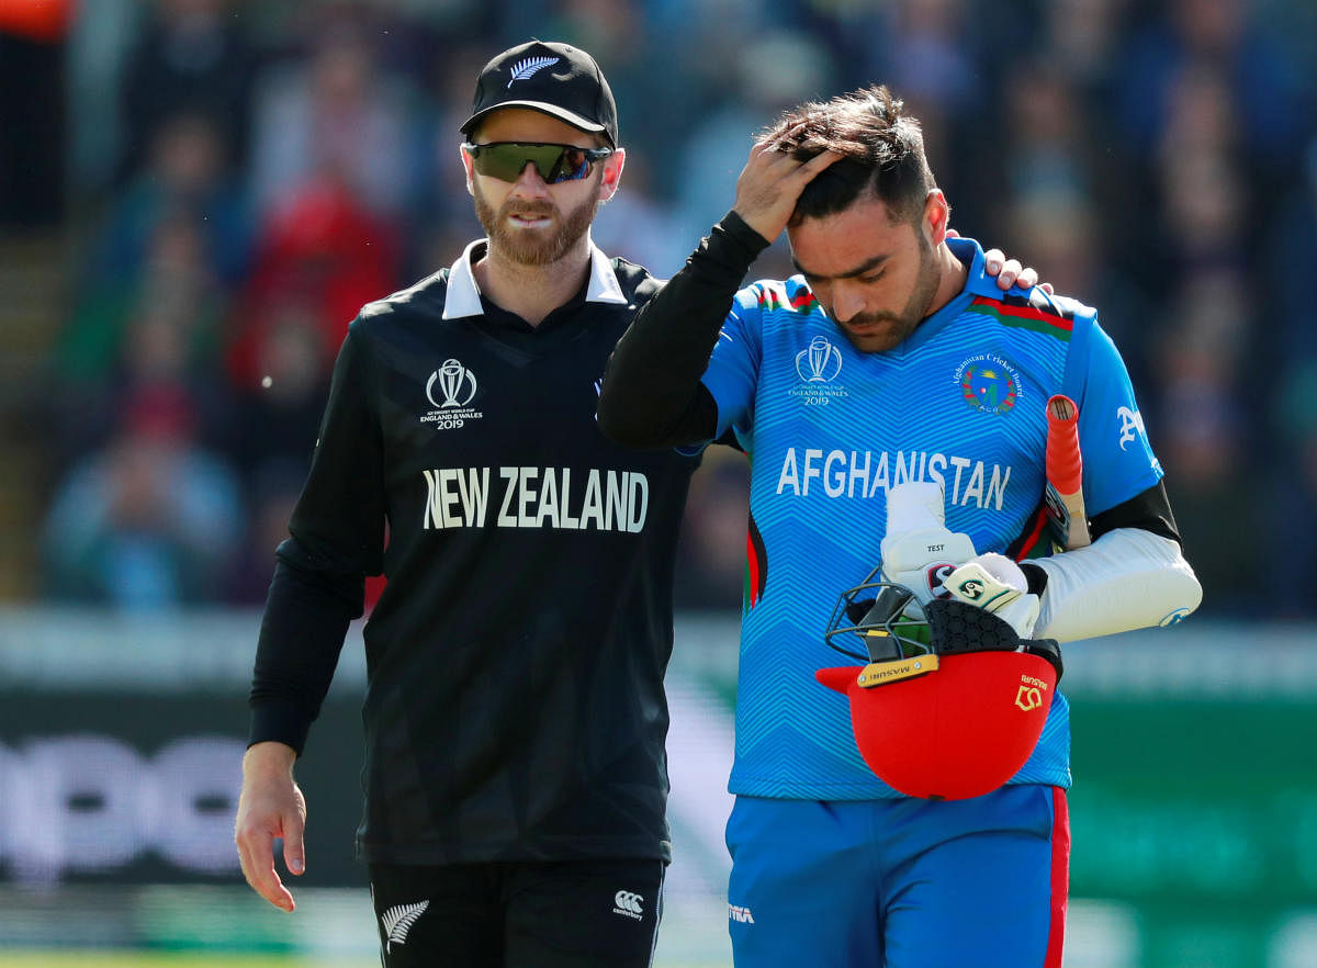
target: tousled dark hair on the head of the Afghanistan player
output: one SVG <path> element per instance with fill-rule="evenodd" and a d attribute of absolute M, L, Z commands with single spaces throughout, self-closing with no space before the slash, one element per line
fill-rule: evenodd
<path fill-rule="evenodd" d="M 871 86 L 826 103 L 806 101 L 765 132 L 774 150 L 802 161 L 823 151 L 844 155 L 805 186 L 793 225 L 844 211 L 864 194 L 878 198 L 902 221 L 921 216 L 936 183 L 919 121 L 902 115 L 902 107 L 885 86 Z"/>

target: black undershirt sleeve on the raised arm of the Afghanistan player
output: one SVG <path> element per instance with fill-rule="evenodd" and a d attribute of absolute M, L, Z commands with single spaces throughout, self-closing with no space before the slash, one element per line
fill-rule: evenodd
<path fill-rule="evenodd" d="M 624 446 L 709 440 L 718 404 L 699 382 L 745 273 L 769 242 L 728 212 L 636 313 L 599 392 L 599 429 Z"/>

